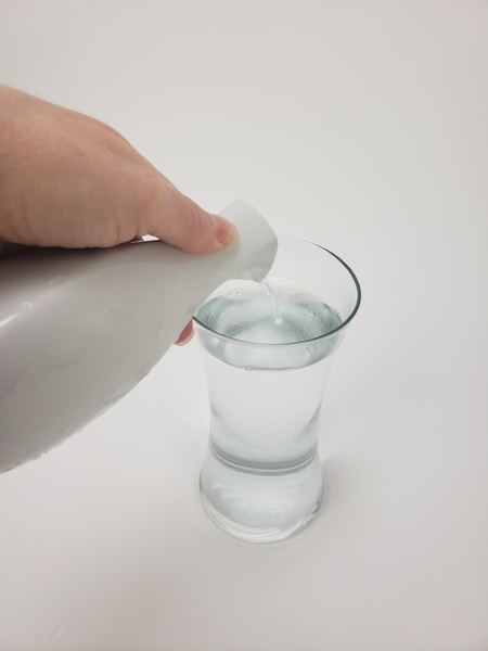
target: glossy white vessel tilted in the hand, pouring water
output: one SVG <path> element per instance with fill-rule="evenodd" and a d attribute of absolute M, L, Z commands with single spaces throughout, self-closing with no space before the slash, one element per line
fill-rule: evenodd
<path fill-rule="evenodd" d="M 0 261 L 0 472 L 35 459 L 125 396 L 229 278 L 260 281 L 278 241 L 243 201 L 213 254 L 160 241 L 39 250 Z"/>

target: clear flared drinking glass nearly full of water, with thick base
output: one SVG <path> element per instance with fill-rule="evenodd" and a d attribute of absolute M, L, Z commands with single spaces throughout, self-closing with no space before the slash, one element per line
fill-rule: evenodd
<path fill-rule="evenodd" d="M 281 238 L 262 283 L 230 280 L 197 311 L 210 398 L 201 493 L 229 534 L 283 540 L 317 514 L 324 492 L 320 408 L 360 297 L 356 276 L 336 255 Z"/>

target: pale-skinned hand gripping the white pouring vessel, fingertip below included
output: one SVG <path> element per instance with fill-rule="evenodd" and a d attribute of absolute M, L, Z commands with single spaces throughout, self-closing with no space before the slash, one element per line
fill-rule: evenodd
<path fill-rule="evenodd" d="M 0 86 L 0 258 L 143 235 L 189 253 L 217 252 L 237 237 L 107 125 Z M 176 343 L 192 334 L 190 322 Z"/>

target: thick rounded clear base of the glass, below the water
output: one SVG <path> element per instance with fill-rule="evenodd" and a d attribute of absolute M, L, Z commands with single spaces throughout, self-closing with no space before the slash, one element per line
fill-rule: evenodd
<path fill-rule="evenodd" d="M 313 520 L 324 484 L 317 455 L 295 469 L 266 472 L 227 463 L 210 448 L 200 489 L 205 510 L 224 532 L 249 542 L 277 542 Z"/>

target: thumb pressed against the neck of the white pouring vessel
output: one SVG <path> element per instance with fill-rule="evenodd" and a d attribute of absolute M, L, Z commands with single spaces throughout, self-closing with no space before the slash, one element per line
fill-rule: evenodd
<path fill-rule="evenodd" d="M 188 253 L 215 253 L 239 240 L 235 227 L 168 186 L 153 206 L 150 234 Z"/>

